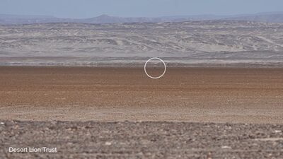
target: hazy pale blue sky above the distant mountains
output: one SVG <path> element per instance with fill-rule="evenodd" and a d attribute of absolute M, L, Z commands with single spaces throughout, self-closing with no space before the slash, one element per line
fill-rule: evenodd
<path fill-rule="evenodd" d="M 233 15 L 283 11 L 283 0 L 0 0 L 0 13 L 91 18 Z"/>

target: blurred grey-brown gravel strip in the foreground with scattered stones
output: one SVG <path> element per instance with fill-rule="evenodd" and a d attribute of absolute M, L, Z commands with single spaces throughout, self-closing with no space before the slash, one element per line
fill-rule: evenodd
<path fill-rule="evenodd" d="M 282 158 L 283 126 L 0 121 L 0 158 Z M 23 142 L 24 141 L 24 142 Z M 8 153 L 8 148 L 57 153 Z"/>

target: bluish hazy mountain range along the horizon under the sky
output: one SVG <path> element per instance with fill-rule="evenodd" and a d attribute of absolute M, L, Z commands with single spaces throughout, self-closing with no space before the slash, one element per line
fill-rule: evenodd
<path fill-rule="evenodd" d="M 192 20 L 244 20 L 266 23 L 283 23 L 283 12 L 257 13 L 236 16 L 215 16 L 215 15 L 197 15 L 197 16 L 164 16 L 157 18 L 125 18 L 101 15 L 94 18 L 57 18 L 54 16 L 17 16 L 0 14 L 0 24 L 33 24 L 33 23 L 161 23 L 161 22 L 184 22 Z"/>

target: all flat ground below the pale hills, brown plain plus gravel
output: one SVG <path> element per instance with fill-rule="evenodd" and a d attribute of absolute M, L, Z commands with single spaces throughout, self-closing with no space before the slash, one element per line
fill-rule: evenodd
<path fill-rule="evenodd" d="M 282 121 L 283 69 L 0 67 L 0 158 L 282 158 Z"/>

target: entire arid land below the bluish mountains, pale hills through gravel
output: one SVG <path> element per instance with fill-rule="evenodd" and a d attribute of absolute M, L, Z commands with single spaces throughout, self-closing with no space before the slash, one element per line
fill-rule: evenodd
<path fill-rule="evenodd" d="M 0 158 L 282 158 L 282 33 L 240 20 L 0 25 Z M 158 80 L 151 57 L 168 66 Z"/>

